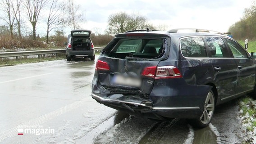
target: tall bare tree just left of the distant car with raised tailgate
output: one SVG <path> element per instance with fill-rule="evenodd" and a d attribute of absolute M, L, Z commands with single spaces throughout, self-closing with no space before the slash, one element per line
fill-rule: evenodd
<path fill-rule="evenodd" d="M 46 43 L 49 43 L 49 32 L 59 27 L 64 23 L 64 18 L 61 17 L 61 10 L 64 9 L 64 4 L 59 3 L 59 0 L 52 0 L 50 3 L 49 15 L 47 18 Z"/>

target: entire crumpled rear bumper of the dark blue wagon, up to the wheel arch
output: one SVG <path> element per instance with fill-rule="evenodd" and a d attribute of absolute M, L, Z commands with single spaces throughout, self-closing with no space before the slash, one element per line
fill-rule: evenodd
<path fill-rule="evenodd" d="M 92 81 L 91 96 L 110 108 L 150 119 L 198 118 L 202 115 L 209 85 L 188 85 L 183 79 L 155 80 L 151 93 L 111 94 L 101 88 L 97 78 Z"/>

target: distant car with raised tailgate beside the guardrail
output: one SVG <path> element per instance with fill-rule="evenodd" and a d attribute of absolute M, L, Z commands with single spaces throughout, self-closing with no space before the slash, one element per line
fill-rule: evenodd
<path fill-rule="evenodd" d="M 67 61 L 76 57 L 95 59 L 95 50 L 90 35 L 90 30 L 70 31 L 66 47 Z"/>

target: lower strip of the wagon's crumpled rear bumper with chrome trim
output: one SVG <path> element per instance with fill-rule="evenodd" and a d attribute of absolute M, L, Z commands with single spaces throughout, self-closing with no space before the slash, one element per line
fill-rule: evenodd
<path fill-rule="evenodd" d="M 131 99 L 122 94 L 113 94 L 102 97 L 91 94 L 97 102 L 110 108 L 125 111 L 133 115 L 150 119 L 165 120 L 168 118 L 197 118 L 201 116 L 202 110 L 199 106 L 194 107 L 156 107 L 153 102 L 145 99 Z"/>

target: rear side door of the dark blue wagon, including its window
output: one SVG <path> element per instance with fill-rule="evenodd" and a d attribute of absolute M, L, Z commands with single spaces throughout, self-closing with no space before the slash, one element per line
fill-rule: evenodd
<path fill-rule="evenodd" d="M 215 83 L 221 100 L 228 99 L 236 94 L 238 84 L 237 64 L 229 53 L 221 37 L 205 37 L 206 45 L 210 50 L 210 61 L 214 69 Z"/>

